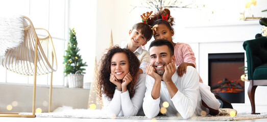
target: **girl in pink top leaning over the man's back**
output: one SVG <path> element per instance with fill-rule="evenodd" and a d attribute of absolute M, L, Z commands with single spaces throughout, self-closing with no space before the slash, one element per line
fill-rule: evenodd
<path fill-rule="evenodd" d="M 152 15 L 150 19 L 153 21 L 152 26 L 157 25 L 156 29 L 154 29 L 154 38 L 165 39 L 173 44 L 175 49 L 175 64 L 179 66 L 177 69 L 178 75 L 182 77 L 183 74 L 186 73 L 187 66 L 196 68 L 196 57 L 191 47 L 186 43 L 173 42 L 172 37 L 174 36 L 174 29 L 172 26 L 174 25 L 174 18 L 171 17 L 170 11 L 168 9 L 160 10 L 158 13 Z M 202 104 L 210 110 L 211 115 L 224 115 L 225 113 L 223 113 L 220 108 L 224 108 L 225 106 L 227 106 L 227 108 L 233 108 L 231 103 L 222 99 L 219 95 L 216 94 L 214 96 L 214 94 L 210 92 L 210 87 L 203 84 L 201 77 L 199 79 Z"/>

